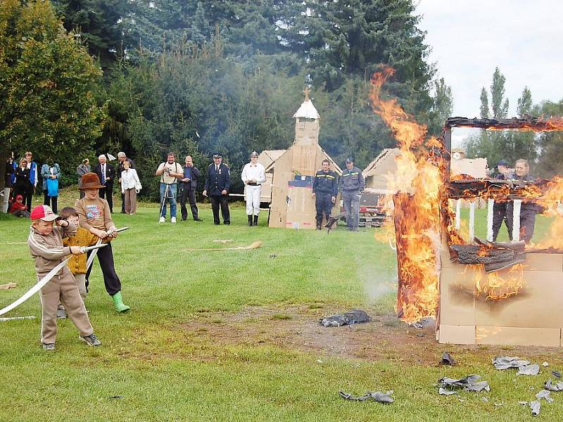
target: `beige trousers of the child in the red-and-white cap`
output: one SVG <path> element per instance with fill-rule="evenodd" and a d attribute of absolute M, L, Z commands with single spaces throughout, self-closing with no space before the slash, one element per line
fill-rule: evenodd
<path fill-rule="evenodd" d="M 41 343 L 55 343 L 59 301 L 65 305 L 66 312 L 72 323 L 78 328 L 80 335 L 94 333 L 76 280 L 68 267 L 64 267 L 61 274 L 54 276 L 49 283 L 46 283 L 39 292 L 39 298 L 42 307 Z"/>

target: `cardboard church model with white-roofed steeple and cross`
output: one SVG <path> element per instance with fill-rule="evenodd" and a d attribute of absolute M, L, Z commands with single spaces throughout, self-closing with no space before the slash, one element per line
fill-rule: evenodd
<path fill-rule="evenodd" d="M 309 90 L 304 92 L 305 101 L 293 115 L 295 141 L 275 162 L 270 227 L 315 229 L 315 198 L 311 196 L 315 172 L 327 159 L 330 169 L 342 174 L 341 168 L 319 146 L 320 116 L 309 99 Z M 333 210 L 332 214 L 335 213 Z"/>

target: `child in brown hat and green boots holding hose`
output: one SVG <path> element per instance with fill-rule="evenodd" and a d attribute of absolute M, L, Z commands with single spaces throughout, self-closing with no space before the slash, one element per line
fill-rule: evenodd
<path fill-rule="evenodd" d="M 115 310 L 117 312 L 127 312 L 131 308 L 124 305 L 121 297 L 121 281 L 118 274 L 115 273 L 113 251 L 111 250 L 110 242 L 118 236 L 118 232 L 113 224 L 113 219 L 111 219 L 108 201 L 99 196 L 99 189 L 103 187 L 96 173 L 84 174 L 82 176 L 82 186 L 80 186 L 80 190 L 84 191 L 84 198 L 76 201 L 75 209 L 78 212 L 78 220 L 81 227 L 98 236 L 98 238 L 108 240 L 106 248 L 98 250 L 103 283 L 113 300 Z M 88 286 L 90 271 L 91 267 L 86 273 L 86 286 Z"/>

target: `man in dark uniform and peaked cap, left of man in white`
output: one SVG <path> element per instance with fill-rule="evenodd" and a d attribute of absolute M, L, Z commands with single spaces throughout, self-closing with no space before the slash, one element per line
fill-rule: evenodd
<path fill-rule="evenodd" d="M 219 206 L 223 215 L 223 224 L 231 224 L 229 215 L 229 188 L 231 187 L 231 174 L 229 167 L 222 162 L 219 153 L 213 154 L 213 163 L 207 169 L 207 179 L 203 196 L 209 196 L 213 210 L 213 224 L 219 224 Z"/>

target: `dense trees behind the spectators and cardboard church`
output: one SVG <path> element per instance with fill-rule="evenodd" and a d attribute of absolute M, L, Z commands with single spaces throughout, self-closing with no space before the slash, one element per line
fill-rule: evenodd
<path fill-rule="evenodd" d="M 367 100 L 382 63 L 431 134 L 450 114 L 418 22 L 412 0 L 4 0 L 0 152 L 51 156 L 73 181 L 83 158 L 125 151 L 156 198 L 167 151 L 200 167 L 218 151 L 236 176 L 287 148 L 310 87 L 321 146 L 362 167 L 396 144 Z"/>

